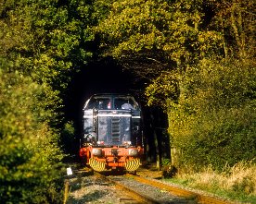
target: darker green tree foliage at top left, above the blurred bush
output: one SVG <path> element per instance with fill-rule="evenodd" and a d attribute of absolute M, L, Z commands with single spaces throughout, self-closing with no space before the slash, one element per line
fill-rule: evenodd
<path fill-rule="evenodd" d="M 86 47 L 94 39 L 85 15 L 89 8 L 83 1 L 7 1 L 0 18 L 1 55 L 34 80 L 63 91 L 92 56 Z"/>

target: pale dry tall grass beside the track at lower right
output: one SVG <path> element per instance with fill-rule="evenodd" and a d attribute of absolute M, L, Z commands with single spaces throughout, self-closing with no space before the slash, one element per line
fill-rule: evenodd
<path fill-rule="evenodd" d="M 172 181 L 224 198 L 256 203 L 256 164 L 252 162 L 226 166 L 222 172 L 213 171 L 211 166 L 198 173 L 190 169 L 179 172 Z"/>

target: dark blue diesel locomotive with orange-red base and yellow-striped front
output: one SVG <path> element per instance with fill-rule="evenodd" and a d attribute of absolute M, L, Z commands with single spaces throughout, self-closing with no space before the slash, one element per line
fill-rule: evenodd
<path fill-rule="evenodd" d="M 144 155 L 141 109 L 130 94 L 94 94 L 83 106 L 79 155 L 97 172 L 135 171 Z"/>

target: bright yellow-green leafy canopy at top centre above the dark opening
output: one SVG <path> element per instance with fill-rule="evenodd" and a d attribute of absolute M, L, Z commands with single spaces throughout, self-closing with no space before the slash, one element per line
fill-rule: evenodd
<path fill-rule="evenodd" d="M 97 30 L 106 36 L 111 53 L 118 58 L 123 54 L 162 50 L 177 61 L 188 54 L 185 43 L 188 32 L 194 30 L 187 24 L 190 14 L 178 7 L 165 1 L 115 1 L 109 18 Z"/>

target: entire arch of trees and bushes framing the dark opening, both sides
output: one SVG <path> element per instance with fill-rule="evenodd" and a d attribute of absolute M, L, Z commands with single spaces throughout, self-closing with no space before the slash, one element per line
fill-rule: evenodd
<path fill-rule="evenodd" d="M 255 162 L 253 1 L 7 0 L 0 27 L 1 201 L 61 201 L 66 88 L 99 57 L 146 81 L 174 165 Z"/>

